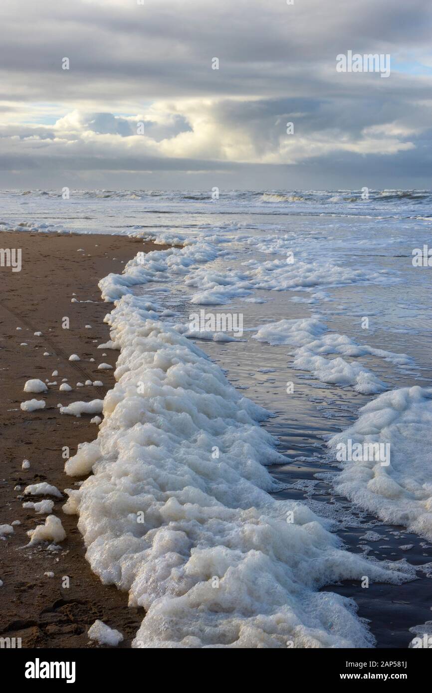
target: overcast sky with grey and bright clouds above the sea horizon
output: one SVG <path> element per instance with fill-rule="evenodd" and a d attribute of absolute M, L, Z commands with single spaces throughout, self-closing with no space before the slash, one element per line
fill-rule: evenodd
<path fill-rule="evenodd" d="M 1 0 L 1 188 L 432 188 L 431 0 L 143 1 Z"/>

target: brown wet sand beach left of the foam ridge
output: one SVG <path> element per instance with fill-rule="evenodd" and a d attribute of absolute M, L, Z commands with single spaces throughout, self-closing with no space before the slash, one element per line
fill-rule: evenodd
<path fill-rule="evenodd" d="M 12 272 L 10 267 L 0 267 L 0 525 L 21 523 L 15 525 L 14 534 L 0 541 L 0 635 L 21 638 L 22 647 L 87 647 L 87 629 L 101 619 L 123 633 L 120 647 L 129 647 L 143 611 L 128 608 L 126 594 L 103 586 L 91 572 L 77 518 L 62 512 L 64 500 L 55 500 L 53 507 L 67 532 L 62 550 L 22 549 L 28 542 L 26 531 L 44 523 L 46 516 L 22 507 L 24 500 L 42 497 L 22 498 L 21 493 L 28 484 L 39 482 L 60 491 L 74 486 L 63 471 L 62 447 L 68 446 L 74 455 L 78 443 L 96 438 L 98 426 L 90 423 L 89 415 L 60 414 L 57 405 L 103 398 L 114 377 L 113 371 L 98 370 L 98 364 L 114 366 L 118 355 L 97 349 L 109 339 L 103 317 L 111 310 L 110 304 L 101 301 L 98 280 L 121 272 L 122 261 L 139 250 L 162 246 L 119 236 L 23 232 L 1 234 L 1 247 L 21 248 L 22 269 Z M 92 302 L 71 303 L 74 293 L 77 300 Z M 69 329 L 62 328 L 64 317 L 69 317 Z M 92 327 L 85 328 L 86 324 Z M 42 336 L 35 336 L 38 331 Z M 22 342 L 27 346 L 21 346 Z M 69 361 L 72 353 L 80 361 Z M 58 376 L 51 377 L 55 370 Z M 30 378 L 49 378 L 57 385 L 50 386 L 46 395 L 28 394 L 23 388 Z M 71 392 L 59 392 L 63 378 L 68 379 Z M 102 380 L 103 387 L 76 387 L 85 380 Z M 44 398 L 46 408 L 21 411 L 21 402 L 31 398 Z M 31 462 L 26 471 L 21 469 L 24 459 Z M 62 587 L 63 576 L 69 577 L 69 588 Z"/>

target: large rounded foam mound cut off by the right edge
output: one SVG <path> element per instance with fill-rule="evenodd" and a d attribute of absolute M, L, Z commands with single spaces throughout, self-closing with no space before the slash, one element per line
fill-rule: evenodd
<path fill-rule="evenodd" d="M 360 410 L 360 417 L 333 436 L 338 444 L 390 444 L 390 465 L 361 460 L 343 462 L 336 493 L 345 495 L 390 525 L 403 525 L 432 540 L 432 389 L 402 387 L 381 394 Z"/>

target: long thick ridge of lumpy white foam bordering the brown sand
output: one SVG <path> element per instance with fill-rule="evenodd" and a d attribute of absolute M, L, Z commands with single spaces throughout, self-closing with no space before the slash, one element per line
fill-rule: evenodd
<path fill-rule="evenodd" d="M 105 297 L 127 284 L 101 282 Z M 354 604 L 317 590 L 364 574 L 399 582 L 405 569 L 346 552 L 305 505 L 267 493 L 264 465 L 286 462 L 258 426 L 268 413 L 144 306 L 123 292 L 105 319 L 118 382 L 97 441 L 66 465 L 93 470 L 65 507 L 92 570 L 146 609 L 134 646 L 370 646 Z"/>

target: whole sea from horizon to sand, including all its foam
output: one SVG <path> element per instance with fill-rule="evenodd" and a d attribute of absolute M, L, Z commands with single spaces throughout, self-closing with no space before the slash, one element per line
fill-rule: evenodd
<path fill-rule="evenodd" d="M 430 614 L 432 193 L 0 201 L 3 229 L 173 244 L 100 283 L 118 382 L 67 466 L 94 472 L 66 508 L 92 569 L 148 612 L 135 647 L 407 647 Z M 340 461 L 349 441 L 388 455 Z"/>

